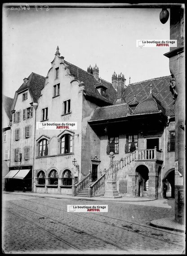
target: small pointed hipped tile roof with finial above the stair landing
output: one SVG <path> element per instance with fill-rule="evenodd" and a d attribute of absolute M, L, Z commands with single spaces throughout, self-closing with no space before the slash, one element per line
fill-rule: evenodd
<path fill-rule="evenodd" d="M 144 99 L 138 104 L 133 114 L 137 115 L 157 112 L 163 112 L 163 114 L 165 114 L 165 108 L 162 107 L 160 102 L 152 94 L 149 94 L 147 99 Z"/>

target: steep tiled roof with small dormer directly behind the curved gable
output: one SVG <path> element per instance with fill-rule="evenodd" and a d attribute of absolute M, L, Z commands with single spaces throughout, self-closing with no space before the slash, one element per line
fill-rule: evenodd
<path fill-rule="evenodd" d="M 67 61 L 64 61 L 64 63 L 68 66 L 70 73 L 75 75 L 76 80 L 84 82 L 86 95 L 100 99 L 107 104 L 113 104 L 116 101 L 116 90 L 111 83 L 100 78 L 97 80 L 93 74 L 90 74 Z M 105 96 L 101 95 L 96 89 L 96 86 L 98 85 L 103 85 L 107 88 Z"/>

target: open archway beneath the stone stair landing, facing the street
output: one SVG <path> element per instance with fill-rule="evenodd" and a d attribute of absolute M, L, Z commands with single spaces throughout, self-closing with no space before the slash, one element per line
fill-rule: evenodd
<path fill-rule="evenodd" d="M 140 165 L 136 168 L 136 196 L 147 196 L 149 190 L 149 170 L 146 166 Z"/>

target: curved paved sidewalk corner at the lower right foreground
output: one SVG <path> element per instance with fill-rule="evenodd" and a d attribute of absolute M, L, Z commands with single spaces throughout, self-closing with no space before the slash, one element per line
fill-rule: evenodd
<path fill-rule="evenodd" d="M 168 229 L 168 230 L 174 230 L 178 232 L 185 232 L 185 225 L 182 225 L 176 222 L 174 220 L 174 217 L 151 220 L 150 225 L 160 229 Z"/>

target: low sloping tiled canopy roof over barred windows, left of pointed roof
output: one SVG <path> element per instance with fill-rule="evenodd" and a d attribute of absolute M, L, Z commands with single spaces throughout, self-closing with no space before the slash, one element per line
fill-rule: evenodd
<path fill-rule="evenodd" d="M 131 112 L 132 111 L 130 110 L 127 103 L 96 108 L 93 116 L 89 121 L 99 121 L 119 117 L 126 117 L 127 115 L 130 115 Z"/>

